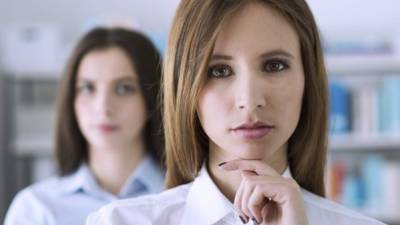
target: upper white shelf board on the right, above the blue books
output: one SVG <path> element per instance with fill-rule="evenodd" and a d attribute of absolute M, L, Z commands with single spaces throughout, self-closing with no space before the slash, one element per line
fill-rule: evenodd
<path fill-rule="evenodd" d="M 400 72 L 400 56 L 393 55 L 326 55 L 325 63 L 333 76 Z"/>

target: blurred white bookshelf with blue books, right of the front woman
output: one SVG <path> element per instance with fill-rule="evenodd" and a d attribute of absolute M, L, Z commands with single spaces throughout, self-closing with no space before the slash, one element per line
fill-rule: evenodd
<path fill-rule="evenodd" d="M 382 97 L 382 93 L 389 87 L 385 86 L 384 82 L 387 84 L 400 79 L 400 56 L 326 55 L 325 63 L 329 80 L 343 82 L 348 90 L 346 94 L 350 98 L 347 104 L 351 123 L 348 130 L 333 132 L 329 138 L 328 173 L 335 172 L 333 177 L 342 173 L 342 180 L 339 180 L 339 186 L 342 188 L 340 197 L 333 199 L 389 225 L 400 224 L 400 204 L 396 203 L 400 203 L 400 195 L 396 191 L 400 188 L 400 132 L 398 129 L 389 129 L 389 132 L 383 130 L 383 114 L 379 115 L 382 113 L 380 102 L 387 101 L 387 94 L 397 96 L 397 91 L 392 91 L 395 88 L 386 92 L 385 97 Z M 391 80 L 385 81 L 387 78 Z M 366 95 L 367 92 L 375 93 Z M 400 96 L 391 97 L 400 99 Z M 376 99 L 370 101 L 372 98 Z M 361 101 L 363 103 L 360 103 Z M 372 102 L 373 106 L 366 107 L 366 101 L 368 104 Z M 369 124 L 360 131 L 360 128 L 354 125 L 357 120 L 358 123 L 361 121 Z M 373 177 L 379 177 L 382 184 L 373 184 Z M 328 185 L 332 185 L 333 182 L 337 188 L 336 178 L 330 181 L 331 184 L 328 181 Z M 332 179 L 332 175 L 328 179 Z M 379 181 L 376 180 L 375 183 Z M 328 187 L 328 190 L 329 188 L 332 187 Z M 354 195 L 354 190 L 365 196 Z M 370 209 L 371 205 L 374 206 L 373 210 Z"/>

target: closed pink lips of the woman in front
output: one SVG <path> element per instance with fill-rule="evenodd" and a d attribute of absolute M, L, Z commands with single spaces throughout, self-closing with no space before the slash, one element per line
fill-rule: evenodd
<path fill-rule="evenodd" d="M 268 135 L 274 127 L 266 123 L 244 123 L 231 131 L 240 138 L 256 140 Z"/>

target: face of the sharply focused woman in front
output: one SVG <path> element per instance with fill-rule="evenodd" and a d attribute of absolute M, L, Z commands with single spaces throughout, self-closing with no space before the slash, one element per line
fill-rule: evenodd
<path fill-rule="evenodd" d="M 247 4 L 223 24 L 207 76 L 197 111 L 210 157 L 283 159 L 304 90 L 299 38 L 285 18 Z"/>

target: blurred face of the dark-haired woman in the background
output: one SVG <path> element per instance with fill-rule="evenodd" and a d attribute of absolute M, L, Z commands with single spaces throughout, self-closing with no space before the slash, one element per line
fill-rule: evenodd
<path fill-rule="evenodd" d="M 91 148 L 127 148 L 143 141 L 145 100 L 139 76 L 120 48 L 86 54 L 75 91 L 75 114 Z"/>

